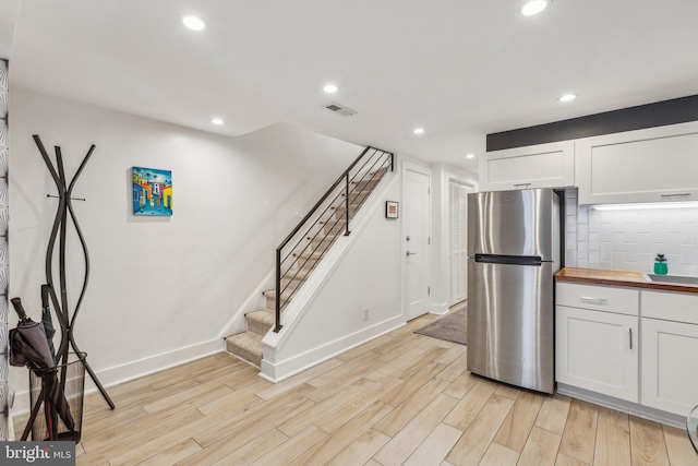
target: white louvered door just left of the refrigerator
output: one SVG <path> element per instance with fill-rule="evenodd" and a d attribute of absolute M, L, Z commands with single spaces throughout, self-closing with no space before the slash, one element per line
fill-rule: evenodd
<path fill-rule="evenodd" d="M 461 302 L 468 296 L 468 193 L 471 191 L 470 187 L 457 181 L 448 182 L 448 306 Z"/>

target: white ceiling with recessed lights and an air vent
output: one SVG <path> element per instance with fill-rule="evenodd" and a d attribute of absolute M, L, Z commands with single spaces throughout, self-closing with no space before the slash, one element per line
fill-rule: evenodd
<path fill-rule="evenodd" d="M 286 121 L 471 171 L 486 133 L 698 94 L 698 0 L 554 0 L 533 17 L 518 0 L 21 3 L 11 85 L 230 136 Z"/>

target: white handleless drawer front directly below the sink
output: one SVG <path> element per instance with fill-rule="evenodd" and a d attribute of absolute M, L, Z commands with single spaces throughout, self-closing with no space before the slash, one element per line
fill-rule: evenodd
<path fill-rule="evenodd" d="M 698 324 L 698 295 L 643 289 L 640 296 L 643 318 Z"/>

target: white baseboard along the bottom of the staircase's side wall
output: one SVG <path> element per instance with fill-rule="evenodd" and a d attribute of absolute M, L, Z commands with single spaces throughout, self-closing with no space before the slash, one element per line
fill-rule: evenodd
<path fill-rule="evenodd" d="M 327 359 L 354 348 L 359 345 L 363 345 L 373 338 L 381 335 L 385 335 L 388 332 L 399 328 L 405 325 L 402 315 L 396 315 L 387 321 L 383 321 L 380 324 L 373 325 L 369 328 L 363 328 L 360 332 L 351 335 L 344 336 L 334 342 L 329 342 L 317 348 L 313 348 L 301 355 L 293 356 L 285 361 L 272 363 L 265 359 L 262 360 L 262 372 L 260 375 L 269 382 L 280 382 L 284 379 L 288 379 L 305 369 L 316 366 Z"/>

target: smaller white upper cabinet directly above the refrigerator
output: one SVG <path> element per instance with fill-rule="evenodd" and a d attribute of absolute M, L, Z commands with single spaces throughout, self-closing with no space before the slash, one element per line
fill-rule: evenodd
<path fill-rule="evenodd" d="M 494 151 L 480 157 L 480 191 L 566 188 L 575 184 L 575 143 Z"/>

